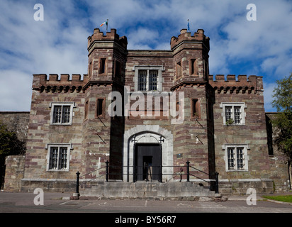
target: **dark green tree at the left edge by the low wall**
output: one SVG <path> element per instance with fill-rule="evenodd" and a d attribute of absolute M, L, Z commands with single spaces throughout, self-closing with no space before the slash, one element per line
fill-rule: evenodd
<path fill-rule="evenodd" d="M 0 121 L 0 188 L 3 187 L 5 176 L 5 157 L 25 153 L 26 143 L 18 140 L 16 133 L 9 131 L 6 125 Z"/>

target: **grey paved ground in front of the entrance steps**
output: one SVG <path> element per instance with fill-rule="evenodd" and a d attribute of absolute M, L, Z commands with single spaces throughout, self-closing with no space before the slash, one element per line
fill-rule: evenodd
<path fill-rule="evenodd" d="M 37 197 L 36 197 L 37 196 Z M 155 200 L 69 200 L 71 194 L 0 192 L 0 213 L 292 213 L 292 204 L 263 201 L 248 205 L 247 196 L 232 196 L 228 201 L 155 201 Z"/>

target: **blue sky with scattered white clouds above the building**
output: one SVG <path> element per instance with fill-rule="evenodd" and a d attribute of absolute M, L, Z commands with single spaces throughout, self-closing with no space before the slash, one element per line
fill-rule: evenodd
<path fill-rule="evenodd" d="M 247 4 L 257 21 L 247 21 Z M 35 21 L 43 4 L 44 21 Z M 87 37 L 109 20 L 128 49 L 169 50 L 172 36 L 203 28 L 210 74 L 264 79 L 266 111 L 276 79 L 292 72 L 292 1 L 288 0 L 0 0 L 0 111 L 29 111 L 33 74 L 86 74 Z M 106 32 L 106 27 L 101 27 Z"/>

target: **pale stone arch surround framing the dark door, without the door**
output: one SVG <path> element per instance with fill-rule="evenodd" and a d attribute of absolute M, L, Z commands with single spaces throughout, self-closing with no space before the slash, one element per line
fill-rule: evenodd
<path fill-rule="evenodd" d="M 133 138 L 139 143 L 157 143 L 160 136 L 162 143 L 162 182 L 172 178 L 173 165 L 173 135 L 165 128 L 157 125 L 138 125 L 125 131 L 123 148 L 123 181 L 133 182 L 134 143 Z"/>

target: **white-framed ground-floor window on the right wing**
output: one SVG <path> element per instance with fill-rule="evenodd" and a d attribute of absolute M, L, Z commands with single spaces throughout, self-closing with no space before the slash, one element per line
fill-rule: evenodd
<path fill-rule="evenodd" d="M 247 171 L 248 170 L 248 155 L 247 144 L 225 144 L 225 169 L 226 172 L 232 171 Z"/>

